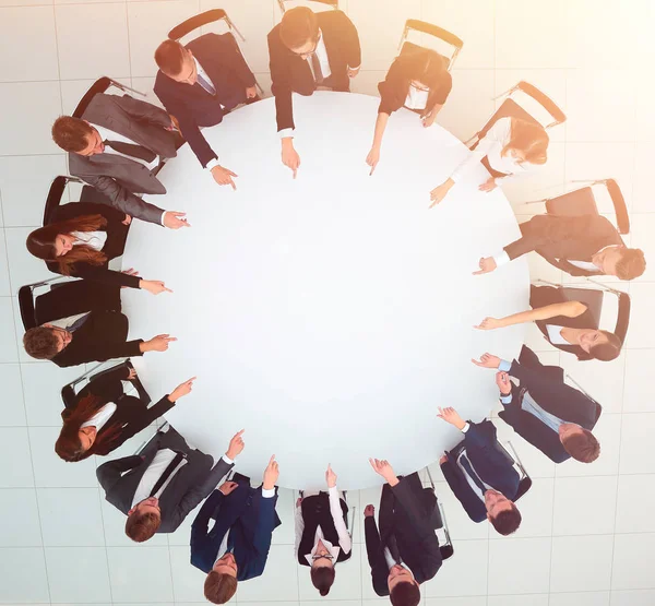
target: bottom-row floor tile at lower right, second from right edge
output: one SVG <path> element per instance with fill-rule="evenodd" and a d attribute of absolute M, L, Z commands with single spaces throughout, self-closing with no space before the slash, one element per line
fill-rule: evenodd
<path fill-rule="evenodd" d="M 550 591 L 609 590 L 612 542 L 611 535 L 553 537 Z"/>

